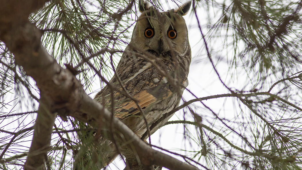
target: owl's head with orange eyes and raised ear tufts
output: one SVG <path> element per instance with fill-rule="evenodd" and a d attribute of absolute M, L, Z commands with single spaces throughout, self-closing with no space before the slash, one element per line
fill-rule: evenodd
<path fill-rule="evenodd" d="M 186 2 L 176 9 L 159 12 L 148 2 L 140 1 L 140 17 L 130 44 L 140 51 L 164 55 L 172 50 L 182 56 L 190 48 L 185 15 L 191 6 Z"/>

